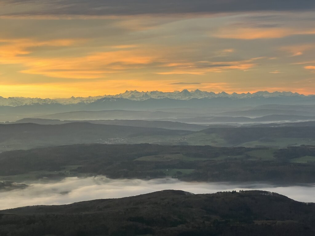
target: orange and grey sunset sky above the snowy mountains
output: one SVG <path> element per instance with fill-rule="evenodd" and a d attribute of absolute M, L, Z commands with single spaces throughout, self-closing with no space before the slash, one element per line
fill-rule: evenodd
<path fill-rule="evenodd" d="M 313 0 L 0 0 L 0 96 L 315 93 Z"/>

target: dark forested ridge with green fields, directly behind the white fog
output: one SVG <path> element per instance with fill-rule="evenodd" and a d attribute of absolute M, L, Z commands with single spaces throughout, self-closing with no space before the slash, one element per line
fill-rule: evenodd
<path fill-rule="evenodd" d="M 186 181 L 315 183 L 314 146 L 269 149 L 77 144 L 3 152 L 0 162 L 1 176 L 52 171 L 38 178 L 63 178 L 71 173 L 110 178 L 173 176 Z"/>

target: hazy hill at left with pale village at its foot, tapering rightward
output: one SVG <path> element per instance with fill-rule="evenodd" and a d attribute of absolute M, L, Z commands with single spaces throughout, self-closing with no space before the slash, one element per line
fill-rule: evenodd
<path fill-rule="evenodd" d="M 5 124 L 0 125 L 0 133 L 0 150 L 3 151 L 75 143 L 132 143 L 137 136 L 182 136 L 191 131 L 74 122 Z"/>

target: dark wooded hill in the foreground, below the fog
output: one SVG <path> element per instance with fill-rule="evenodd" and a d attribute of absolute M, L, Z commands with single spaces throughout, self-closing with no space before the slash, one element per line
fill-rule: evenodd
<path fill-rule="evenodd" d="M 0 211 L 2 236 L 313 236 L 315 204 L 265 191 L 164 190 L 121 199 Z"/>

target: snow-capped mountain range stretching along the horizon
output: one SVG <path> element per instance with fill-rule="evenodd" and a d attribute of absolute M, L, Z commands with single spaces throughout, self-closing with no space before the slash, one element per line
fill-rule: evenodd
<path fill-rule="evenodd" d="M 160 91 L 147 91 L 147 92 L 138 92 L 136 90 L 126 91 L 124 93 L 116 95 L 104 95 L 96 97 L 71 97 L 71 98 L 24 98 L 24 97 L 9 97 L 3 98 L 0 96 L 0 106 L 22 106 L 22 105 L 31 105 L 31 104 L 78 104 L 78 103 L 93 103 L 101 98 L 125 98 L 129 100 L 141 101 L 149 98 L 162 99 L 179 99 L 179 100 L 189 100 L 192 98 L 275 98 L 275 97 L 309 97 L 314 95 L 305 96 L 299 93 L 292 92 L 267 92 L 259 91 L 256 93 L 232 93 L 228 94 L 225 92 L 213 93 L 200 91 L 199 89 L 194 91 L 188 91 L 184 89 L 183 91 L 174 91 L 174 92 L 160 92 Z"/>

